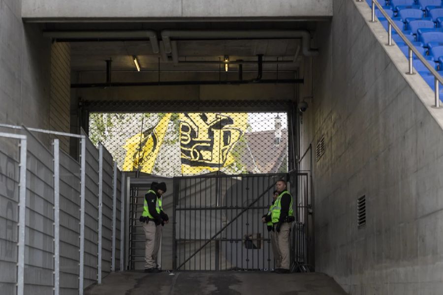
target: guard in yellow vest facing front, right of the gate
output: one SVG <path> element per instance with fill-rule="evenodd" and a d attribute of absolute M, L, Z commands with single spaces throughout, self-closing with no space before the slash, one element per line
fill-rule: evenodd
<path fill-rule="evenodd" d="M 276 261 L 275 272 L 287 273 L 289 272 L 290 266 L 289 236 L 291 222 L 294 221 L 295 218 L 292 209 L 292 196 L 286 190 L 286 181 L 279 180 L 275 185 L 279 194 L 271 211 L 271 222 L 274 230 L 274 243 L 276 244 L 275 248 L 277 250 L 274 251 L 274 258 Z"/>

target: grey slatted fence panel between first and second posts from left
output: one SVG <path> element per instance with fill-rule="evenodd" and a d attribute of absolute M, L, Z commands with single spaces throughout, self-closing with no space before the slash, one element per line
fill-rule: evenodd
<path fill-rule="evenodd" d="M 30 132 L 26 181 L 25 294 L 51 294 L 54 286 L 53 156 Z"/>

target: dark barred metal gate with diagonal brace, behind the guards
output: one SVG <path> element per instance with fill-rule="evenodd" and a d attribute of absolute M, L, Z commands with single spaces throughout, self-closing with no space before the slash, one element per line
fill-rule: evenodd
<path fill-rule="evenodd" d="M 296 174 L 303 178 L 305 174 Z M 291 238 L 291 261 L 305 263 L 305 226 L 299 216 L 296 181 L 288 174 L 204 175 L 173 180 L 173 268 L 176 270 L 272 270 L 266 224 L 275 182 L 291 180 L 297 222 Z M 307 178 L 307 177 L 306 177 Z M 304 198 L 303 198 L 304 199 Z"/>

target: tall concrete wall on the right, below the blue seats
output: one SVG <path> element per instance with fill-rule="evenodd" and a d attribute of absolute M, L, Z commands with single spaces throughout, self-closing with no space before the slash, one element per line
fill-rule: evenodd
<path fill-rule="evenodd" d="M 441 294 L 443 110 L 431 108 L 419 75 L 405 74 L 398 47 L 384 45 L 366 2 L 334 0 L 333 13 L 316 32 L 314 97 L 301 125 L 302 152 L 312 143 L 315 155 L 325 136 L 325 154 L 314 157 L 316 271 L 350 294 Z M 310 95 L 307 83 L 300 97 Z"/>

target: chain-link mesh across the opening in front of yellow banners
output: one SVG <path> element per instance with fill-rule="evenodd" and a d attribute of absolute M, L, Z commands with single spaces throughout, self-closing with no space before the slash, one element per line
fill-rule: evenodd
<path fill-rule="evenodd" d="M 287 171 L 286 113 L 92 113 L 89 137 L 122 171 L 165 177 Z"/>

